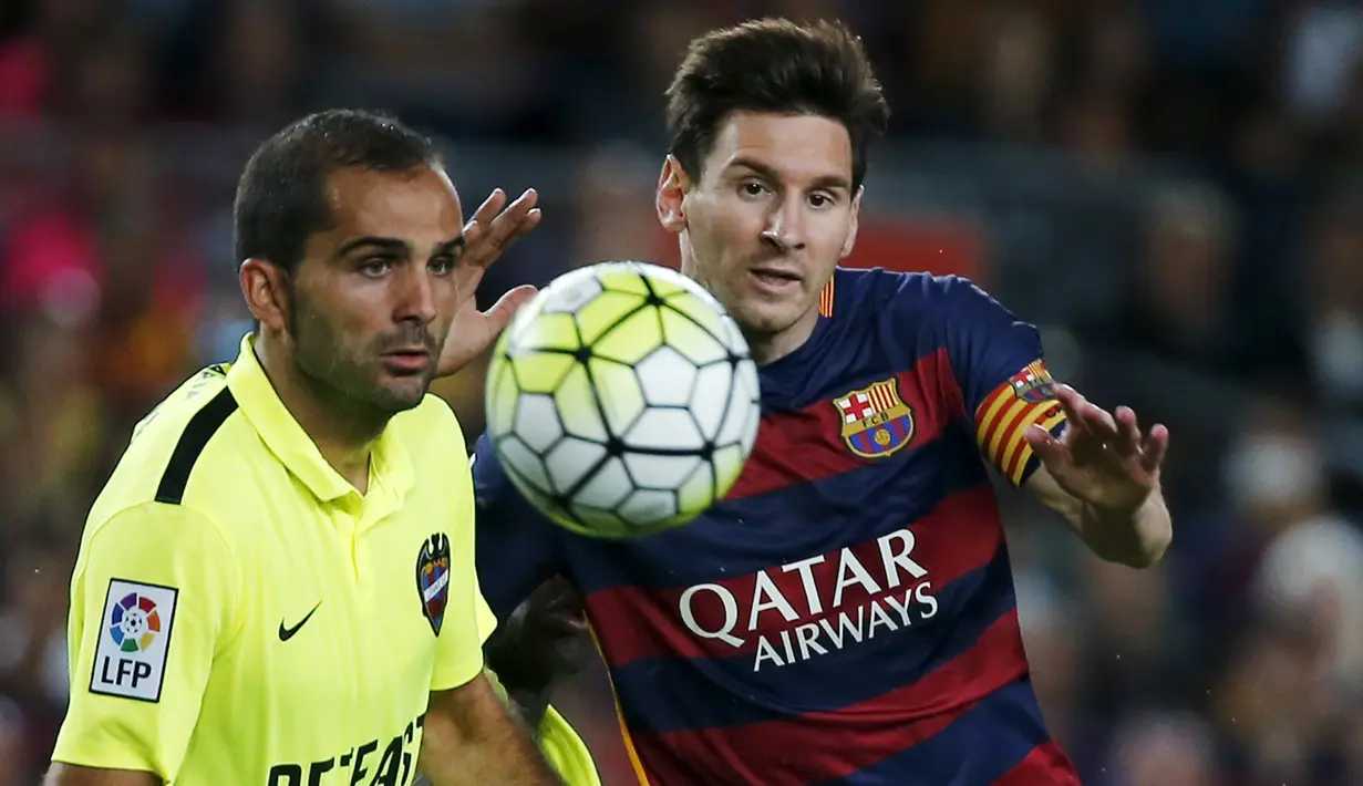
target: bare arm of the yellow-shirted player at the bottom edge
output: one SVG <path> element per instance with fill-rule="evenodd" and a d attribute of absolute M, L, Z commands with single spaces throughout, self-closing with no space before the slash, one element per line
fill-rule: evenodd
<path fill-rule="evenodd" d="M 431 693 L 420 768 L 432 786 L 562 786 L 481 676 Z"/>

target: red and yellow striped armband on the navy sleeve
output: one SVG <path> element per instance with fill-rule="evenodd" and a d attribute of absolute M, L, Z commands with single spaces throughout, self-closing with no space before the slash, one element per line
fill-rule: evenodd
<path fill-rule="evenodd" d="M 1032 445 L 1024 435 L 1033 424 L 1055 433 L 1065 410 L 1055 400 L 1055 380 L 1045 364 L 1032 361 L 994 388 L 975 410 L 975 439 L 980 451 L 1014 486 L 1026 480 Z"/>

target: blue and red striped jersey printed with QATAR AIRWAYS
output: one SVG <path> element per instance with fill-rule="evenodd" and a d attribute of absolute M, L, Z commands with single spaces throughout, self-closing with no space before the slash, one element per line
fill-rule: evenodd
<path fill-rule="evenodd" d="M 647 538 L 548 523 L 484 439 L 493 610 L 575 584 L 641 783 L 1078 783 L 1028 677 L 990 482 L 1028 478 L 1032 424 L 1063 428 L 1036 328 L 962 278 L 838 270 L 761 383 L 732 492 Z"/>

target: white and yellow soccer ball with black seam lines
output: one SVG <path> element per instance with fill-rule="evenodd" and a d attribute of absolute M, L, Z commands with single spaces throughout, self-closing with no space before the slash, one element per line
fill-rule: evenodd
<path fill-rule="evenodd" d="M 759 420 L 737 324 L 657 264 L 559 277 L 521 306 L 488 366 L 497 459 L 536 508 L 585 535 L 695 519 L 739 478 Z"/>

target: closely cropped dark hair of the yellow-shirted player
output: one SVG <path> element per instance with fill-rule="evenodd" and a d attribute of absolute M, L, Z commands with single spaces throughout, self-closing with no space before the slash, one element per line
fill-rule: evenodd
<path fill-rule="evenodd" d="M 264 259 L 293 272 L 308 237 L 330 226 L 327 178 L 357 166 L 440 166 L 435 144 L 395 117 L 330 109 L 284 128 L 251 154 L 233 204 L 236 262 Z"/>

